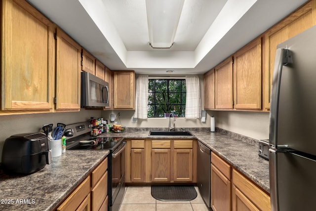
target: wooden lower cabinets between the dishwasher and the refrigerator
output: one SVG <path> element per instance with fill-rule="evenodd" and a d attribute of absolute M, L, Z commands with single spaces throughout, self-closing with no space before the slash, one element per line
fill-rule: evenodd
<path fill-rule="evenodd" d="M 271 211 L 270 196 L 211 154 L 211 208 L 213 211 Z"/>

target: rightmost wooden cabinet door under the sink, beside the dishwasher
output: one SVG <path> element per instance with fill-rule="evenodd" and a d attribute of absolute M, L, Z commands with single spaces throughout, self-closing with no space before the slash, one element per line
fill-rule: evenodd
<path fill-rule="evenodd" d="M 193 149 L 174 149 L 174 181 L 193 180 Z"/>

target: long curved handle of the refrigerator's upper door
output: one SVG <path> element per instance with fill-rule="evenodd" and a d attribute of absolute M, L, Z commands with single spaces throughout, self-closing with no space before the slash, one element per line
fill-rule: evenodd
<path fill-rule="evenodd" d="M 277 114 L 279 92 L 282 76 L 282 67 L 292 64 L 292 54 L 289 49 L 277 48 L 275 66 L 273 70 L 272 91 L 271 91 L 271 104 L 270 104 L 270 144 L 277 147 Z"/>

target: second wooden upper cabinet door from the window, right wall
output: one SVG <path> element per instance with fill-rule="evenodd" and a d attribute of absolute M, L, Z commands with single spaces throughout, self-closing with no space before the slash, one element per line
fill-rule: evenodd
<path fill-rule="evenodd" d="M 233 59 L 215 67 L 215 108 L 233 109 Z"/>

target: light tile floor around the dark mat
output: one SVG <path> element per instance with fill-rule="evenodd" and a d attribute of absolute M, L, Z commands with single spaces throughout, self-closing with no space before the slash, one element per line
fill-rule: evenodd
<path fill-rule="evenodd" d="M 127 186 L 119 211 L 209 211 L 197 191 L 192 201 L 159 201 L 152 197 L 151 186 Z"/>

